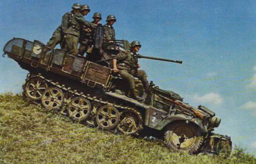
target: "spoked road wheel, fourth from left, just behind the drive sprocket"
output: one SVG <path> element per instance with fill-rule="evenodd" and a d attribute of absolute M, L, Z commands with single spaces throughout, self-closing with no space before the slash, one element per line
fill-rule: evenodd
<path fill-rule="evenodd" d="M 112 105 L 101 106 L 96 113 L 96 123 L 104 130 L 114 130 L 120 120 L 119 111 Z"/>

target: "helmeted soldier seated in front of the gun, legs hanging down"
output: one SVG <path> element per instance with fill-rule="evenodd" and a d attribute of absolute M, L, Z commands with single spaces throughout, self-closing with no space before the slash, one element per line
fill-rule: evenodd
<path fill-rule="evenodd" d="M 140 42 L 133 41 L 131 43 L 131 52 L 120 52 L 115 56 L 115 59 L 113 60 L 113 71 L 119 72 L 121 77 L 127 80 L 131 96 L 138 101 L 142 101 L 143 98 L 139 97 L 138 94 L 135 92 L 134 77 L 140 79 L 144 86 L 145 92 L 149 92 L 149 82 L 147 80 L 147 74 L 143 70 L 137 70 L 137 68 L 140 68 L 141 65 L 138 63 L 138 59 L 134 58 L 134 55 L 140 50 L 140 48 Z"/>

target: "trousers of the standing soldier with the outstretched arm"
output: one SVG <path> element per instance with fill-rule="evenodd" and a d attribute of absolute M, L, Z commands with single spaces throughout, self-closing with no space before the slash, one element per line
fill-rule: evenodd
<path fill-rule="evenodd" d="M 78 55 L 78 37 L 71 34 L 65 35 L 65 42 L 68 54 Z"/>

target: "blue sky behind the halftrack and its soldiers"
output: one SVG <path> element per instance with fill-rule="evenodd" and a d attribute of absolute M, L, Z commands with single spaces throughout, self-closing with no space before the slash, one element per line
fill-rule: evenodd
<path fill-rule="evenodd" d="M 256 153 L 255 0 L 8 0 L 0 1 L 0 47 L 13 37 L 50 39 L 73 3 L 117 18 L 117 39 L 140 40 L 140 53 L 183 60 L 140 59 L 161 88 L 192 105 L 206 105 L 222 118 L 216 132 Z M 0 57 L 0 92 L 21 92 L 28 73 Z"/>

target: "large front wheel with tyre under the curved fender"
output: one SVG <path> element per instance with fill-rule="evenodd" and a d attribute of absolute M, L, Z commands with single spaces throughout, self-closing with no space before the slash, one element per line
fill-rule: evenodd
<path fill-rule="evenodd" d="M 165 129 L 164 140 L 167 147 L 173 151 L 186 151 L 195 154 L 201 148 L 204 137 L 197 125 L 176 122 Z"/>

